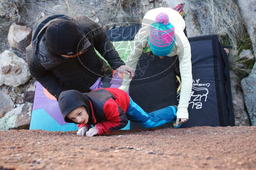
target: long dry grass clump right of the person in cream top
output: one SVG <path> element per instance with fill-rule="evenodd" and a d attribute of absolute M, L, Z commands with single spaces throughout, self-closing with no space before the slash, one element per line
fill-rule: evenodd
<path fill-rule="evenodd" d="M 250 49 L 250 38 L 240 10 L 234 0 L 191 0 L 197 10 L 198 28 L 201 35 L 217 34 L 220 42 L 232 46 L 229 54 L 229 67 L 249 73 L 248 60 L 239 60 L 243 49 Z"/>

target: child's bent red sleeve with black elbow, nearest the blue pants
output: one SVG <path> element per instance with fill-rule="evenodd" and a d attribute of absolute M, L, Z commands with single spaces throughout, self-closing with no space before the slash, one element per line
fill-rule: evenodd
<path fill-rule="evenodd" d="M 107 120 L 95 125 L 98 135 L 122 129 L 128 124 L 124 110 L 112 98 L 106 101 L 103 111 Z"/>

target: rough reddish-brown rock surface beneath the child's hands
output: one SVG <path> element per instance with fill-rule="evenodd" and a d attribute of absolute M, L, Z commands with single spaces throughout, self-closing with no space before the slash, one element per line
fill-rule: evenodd
<path fill-rule="evenodd" d="M 76 131 L 0 132 L 0 170 L 255 167 L 256 126 L 155 128 L 90 138 Z"/>

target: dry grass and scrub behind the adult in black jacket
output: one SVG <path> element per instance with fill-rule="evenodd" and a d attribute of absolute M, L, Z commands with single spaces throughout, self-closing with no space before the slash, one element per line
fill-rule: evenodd
<path fill-rule="evenodd" d="M 33 28 L 48 14 L 64 13 L 71 17 L 99 18 L 100 26 L 129 26 L 138 24 L 146 12 L 140 0 L 3 0 L 0 1 L 0 53 L 10 48 L 7 34 L 14 22 Z"/>

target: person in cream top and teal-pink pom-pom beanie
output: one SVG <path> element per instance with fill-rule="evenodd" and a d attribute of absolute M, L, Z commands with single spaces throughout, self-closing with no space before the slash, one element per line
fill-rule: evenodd
<path fill-rule="evenodd" d="M 176 124 L 188 121 L 188 102 L 192 89 L 191 49 L 186 35 L 186 25 L 180 14 L 171 8 L 156 8 L 146 13 L 141 28 L 132 42 L 132 51 L 126 65 L 136 69 L 137 62 L 145 49 L 159 56 L 179 57 L 181 76 L 180 101 Z M 128 91 L 133 75 L 124 76 L 119 89 Z"/>

